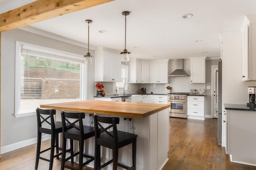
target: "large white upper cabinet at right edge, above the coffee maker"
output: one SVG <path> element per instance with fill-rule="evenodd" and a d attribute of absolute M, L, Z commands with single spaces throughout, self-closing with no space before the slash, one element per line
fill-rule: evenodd
<path fill-rule="evenodd" d="M 256 17 L 244 17 L 242 31 L 242 80 L 256 80 Z"/>

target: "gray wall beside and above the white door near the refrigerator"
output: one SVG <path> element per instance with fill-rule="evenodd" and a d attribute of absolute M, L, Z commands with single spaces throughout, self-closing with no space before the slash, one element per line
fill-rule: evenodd
<path fill-rule="evenodd" d="M 219 60 L 206 60 L 206 86 L 210 86 L 211 89 L 205 89 L 206 94 L 206 115 L 211 115 L 212 108 L 212 66 L 218 66 Z"/>

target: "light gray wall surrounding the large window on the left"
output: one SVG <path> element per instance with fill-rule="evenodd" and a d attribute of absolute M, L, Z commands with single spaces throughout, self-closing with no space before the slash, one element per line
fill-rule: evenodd
<path fill-rule="evenodd" d="M 36 115 L 14 118 L 16 41 L 67 51 L 79 55 L 87 49 L 14 29 L 1 33 L 1 147 L 37 137 Z M 90 51 L 94 56 L 94 51 Z M 94 63 L 94 59 L 93 59 Z M 94 64 L 88 65 L 88 100 L 94 96 Z"/>

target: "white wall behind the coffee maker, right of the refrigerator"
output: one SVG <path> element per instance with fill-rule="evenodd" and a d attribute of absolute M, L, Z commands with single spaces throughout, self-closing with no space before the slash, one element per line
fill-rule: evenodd
<path fill-rule="evenodd" d="M 242 32 L 230 31 L 222 36 L 222 146 L 226 146 L 226 115 L 223 104 L 246 104 L 249 102 L 248 86 L 255 81 L 242 81 Z"/>

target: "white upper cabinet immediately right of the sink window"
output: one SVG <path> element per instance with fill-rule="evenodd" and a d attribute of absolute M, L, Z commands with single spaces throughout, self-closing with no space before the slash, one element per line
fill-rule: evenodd
<path fill-rule="evenodd" d="M 141 83 L 141 61 L 138 59 L 129 61 L 129 82 Z"/>

